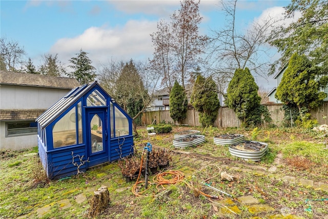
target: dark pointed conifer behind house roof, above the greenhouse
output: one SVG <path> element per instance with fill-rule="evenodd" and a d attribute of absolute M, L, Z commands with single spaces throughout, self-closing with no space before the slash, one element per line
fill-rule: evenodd
<path fill-rule="evenodd" d="M 92 82 L 96 77 L 95 68 L 91 65 L 92 62 L 87 54 L 87 52 L 80 49 L 80 52 L 76 53 L 77 56 L 69 60 L 72 63 L 69 67 L 74 71 L 67 73 L 67 75 L 76 78 L 80 84 Z"/>

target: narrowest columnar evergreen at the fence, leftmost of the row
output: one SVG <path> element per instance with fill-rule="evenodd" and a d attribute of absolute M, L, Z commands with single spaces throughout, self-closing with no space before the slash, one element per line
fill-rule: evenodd
<path fill-rule="evenodd" d="M 185 89 L 175 81 L 170 93 L 170 116 L 173 121 L 181 121 L 187 117 L 187 95 Z"/>

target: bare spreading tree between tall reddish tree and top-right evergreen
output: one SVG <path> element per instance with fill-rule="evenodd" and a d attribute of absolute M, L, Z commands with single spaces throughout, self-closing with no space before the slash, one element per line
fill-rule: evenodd
<path fill-rule="evenodd" d="M 278 21 L 269 16 L 262 21 L 254 21 L 246 31 L 237 30 L 236 5 L 237 0 L 221 0 L 220 6 L 226 13 L 227 24 L 224 28 L 213 31 L 210 39 L 209 69 L 217 78 L 219 87 L 224 89 L 236 69 L 248 67 L 251 72 L 267 78 L 270 53 L 269 48 L 263 45 L 270 33 L 269 29 Z M 224 93 L 224 90 L 220 92 Z"/>

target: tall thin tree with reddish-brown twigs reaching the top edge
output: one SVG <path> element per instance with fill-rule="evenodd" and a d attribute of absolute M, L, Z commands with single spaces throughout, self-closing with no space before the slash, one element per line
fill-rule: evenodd
<path fill-rule="evenodd" d="M 201 61 L 208 37 L 199 35 L 198 26 L 202 20 L 199 15 L 199 1 L 185 0 L 181 8 L 171 16 L 170 24 L 160 21 L 157 32 L 151 34 L 155 47 L 153 69 L 161 71 L 163 82 L 171 90 L 175 79 L 183 87 L 190 73 Z"/>

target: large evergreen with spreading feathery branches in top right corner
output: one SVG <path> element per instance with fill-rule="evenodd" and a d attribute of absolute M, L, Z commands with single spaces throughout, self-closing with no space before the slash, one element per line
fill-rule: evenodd
<path fill-rule="evenodd" d="M 272 64 L 270 74 L 276 66 L 281 68 L 294 53 L 307 54 L 311 62 L 321 66 L 321 73 L 328 72 L 328 2 L 321 0 L 292 0 L 285 7 L 285 18 L 301 14 L 295 22 L 273 28 L 267 41 L 281 52 L 278 61 Z"/>

